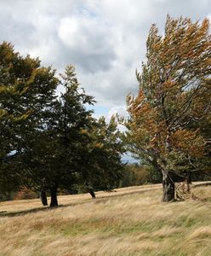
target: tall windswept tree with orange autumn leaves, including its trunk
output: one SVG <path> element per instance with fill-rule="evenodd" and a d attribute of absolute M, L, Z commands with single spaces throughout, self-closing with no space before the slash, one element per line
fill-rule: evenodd
<path fill-rule="evenodd" d="M 163 201 L 174 200 L 174 172 L 204 156 L 200 122 L 210 116 L 209 22 L 167 17 L 165 34 L 152 25 L 138 96 L 128 96 L 131 151 L 163 174 Z"/>

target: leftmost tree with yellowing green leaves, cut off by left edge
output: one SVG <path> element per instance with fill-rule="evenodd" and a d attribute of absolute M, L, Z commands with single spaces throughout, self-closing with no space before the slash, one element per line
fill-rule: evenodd
<path fill-rule="evenodd" d="M 12 44 L 0 44 L 0 187 L 13 190 L 22 177 L 20 155 L 43 112 L 54 99 L 58 79 L 38 59 L 14 52 Z"/>

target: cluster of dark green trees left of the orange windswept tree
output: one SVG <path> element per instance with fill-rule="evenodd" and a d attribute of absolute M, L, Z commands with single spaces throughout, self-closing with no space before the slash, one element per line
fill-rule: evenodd
<path fill-rule="evenodd" d="M 60 92 L 62 91 L 62 92 Z M 74 67 L 58 76 L 38 59 L 0 45 L 0 193 L 25 187 L 48 192 L 56 207 L 58 189 L 117 187 L 124 152 L 117 121 L 94 119 L 94 104 L 77 82 Z"/>

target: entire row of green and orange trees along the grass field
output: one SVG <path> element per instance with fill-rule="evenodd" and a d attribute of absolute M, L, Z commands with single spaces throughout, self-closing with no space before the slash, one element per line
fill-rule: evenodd
<path fill-rule="evenodd" d="M 128 118 L 94 119 L 74 67 L 58 77 L 38 59 L 0 45 L 0 193 L 21 187 L 89 192 L 163 181 L 163 201 L 175 183 L 210 177 L 211 36 L 209 21 L 167 17 L 161 36 L 152 25 L 146 61 L 136 72 L 137 96 Z M 61 91 L 61 92 L 60 92 Z M 130 151 L 142 166 L 126 166 Z"/>

